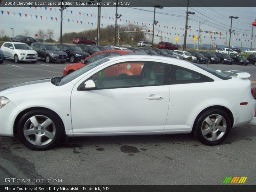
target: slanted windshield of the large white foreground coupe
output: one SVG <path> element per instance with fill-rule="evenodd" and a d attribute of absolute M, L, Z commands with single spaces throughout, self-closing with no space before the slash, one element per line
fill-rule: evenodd
<path fill-rule="evenodd" d="M 95 68 L 95 67 L 99 66 L 100 64 L 105 63 L 107 61 L 109 61 L 109 59 L 107 57 L 102 58 L 100 60 L 96 60 L 96 61 L 90 63 L 89 65 L 86 65 L 86 66 L 74 71 L 73 73 L 70 73 L 66 76 L 61 77 L 60 81 L 56 82 L 55 85 L 58 85 L 58 86 L 64 85 L 64 84 L 74 80 L 76 77 L 78 77 L 80 75 L 83 75 L 87 71 L 89 71 L 89 70 L 91 70 L 91 69 L 93 69 L 93 68 Z M 52 82 L 52 80 L 51 80 L 51 82 Z"/>

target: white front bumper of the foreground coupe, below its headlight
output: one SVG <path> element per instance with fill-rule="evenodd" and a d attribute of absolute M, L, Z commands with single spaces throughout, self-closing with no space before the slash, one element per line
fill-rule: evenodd
<path fill-rule="evenodd" d="M 19 112 L 20 110 L 12 103 L 12 101 L 9 101 L 0 109 L 1 136 L 13 136 L 13 124 Z"/>

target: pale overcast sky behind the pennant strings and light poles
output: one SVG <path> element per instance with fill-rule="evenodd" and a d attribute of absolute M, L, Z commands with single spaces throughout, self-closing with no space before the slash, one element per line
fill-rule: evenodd
<path fill-rule="evenodd" d="M 4 29 L 6 35 L 8 36 L 12 36 L 12 30 L 10 28 L 14 28 L 14 36 L 23 34 L 24 28 L 31 32 L 30 36 L 32 37 L 35 37 L 35 34 L 39 28 L 53 28 L 54 38 L 58 39 L 60 36 L 59 7 L 52 7 L 52 11 L 49 7 L 47 7 L 46 10 L 44 7 L 37 7 L 36 9 L 35 7 L 1 7 L 0 10 L 4 11 L 3 14 L 2 12 L 0 13 L 1 29 Z M 97 7 L 69 7 L 67 10 L 68 11 L 63 11 L 62 34 L 72 31 L 79 32 L 85 29 L 92 29 L 97 27 Z M 9 15 L 7 11 L 9 12 Z M 203 24 L 201 23 L 200 28 L 203 31 L 218 32 L 218 35 L 214 35 L 213 33 L 211 34 L 213 37 L 215 37 L 215 40 L 214 38 L 212 38 L 212 43 L 215 41 L 216 44 L 224 45 L 224 43 L 226 43 L 226 32 L 230 28 L 231 20 L 229 16 L 238 16 L 239 19 L 233 19 L 232 23 L 232 30 L 234 29 L 234 33 L 236 34 L 234 35 L 234 33 L 232 33 L 231 35 L 231 46 L 233 45 L 240 47 L 243 40 L 243 47 L 250 47 L 252 35 L 252 22 L 254 22 L 256 18 L 255 7 L 189 7 L 189 11 L 195 12 L 196 14 L 189 15 L 190 20 L 188 20 L 188 25 L 191 26 L 191 30 L 188 30 L 187 43 L 194 43 L 194 38 L 192 38 L 192 35 L 198 36 L 198 32 L 196 30 L 199 29 L 199 21 L 201 21 L 203 22 Z M 161 36 L 161 31 L 163 32 L 163 41 L 175 43 L 175 37 L 178 36 L 178 43 L 183 43 L 182 36 L 184 34 L 183 29 L 185 28 L 185 12 L 186 7 L 164 7 L 163 9 L 156 9 L 155 20 L 159 21 L 159 23 L 156 26 L 155 31 L 159 31 L 159 36 Z M 19 13 L 21 13 L 21 17 Z M 103 25 L 103 27 L 115 25 L 115 20 L 112 19 L 115 18 L 115 13 L 115 7 L 101 8 L 101 16 L 103 16 L 103 19 L 101 18 L 101 24 Z M 137 24 L 138 22 L 139 25 L 142 25 L 143 23 L 143 25 L 146 24 L 147 29 L 153 29 L 153 7 L 118 7 L 118 13 L 122 14 L 122 17 L 120 18 L 121 21 L 118 20 L 117 22 L 117 24 L 121 26 L 126 24 L 127 20 L 127 23 L 129 23 L 129 21 L 133 24 L 134 22 L 135 24 Z M 25 14 L 27 14 L 27 18 L 25 17 Z M 37 15 L 37 19 L 35 15 Z M 42 19 L 40 16 L 42 16 Z M 47 20 L 46 17 L 48 17 Z M 53 19 L 51 19 L 51 17 Z M 57 18 L 57 21 L 55 18 Z M 219 35 L 220 32 L 222 32 L 222 36 Z M 203 32 L 200 35 L 202 39 L 202 44 L 210 44 L 209 36 L 211 35 L 209 33 Z M 255 35 L 256 28 L 254 27 L 252 38 L 252 47 L 254 48 L 256 48 L 256 43 L 254 42 L 254 40 L 256 40 Z M 158 37 L 156 37 L 154 42 L 156 41 L 159 41 Z"/>

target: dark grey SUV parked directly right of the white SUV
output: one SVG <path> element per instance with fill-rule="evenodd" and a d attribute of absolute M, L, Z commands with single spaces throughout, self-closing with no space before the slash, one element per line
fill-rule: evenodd
<path fill-rule="evenodd" d="M 38 59 L 43 59 L 46 63 L 50 63 L 51 61 L 64 63 L 67 60 L 67 53 L 60 51 L 54 44 L 32 43 L 30 47 L 37 52 Z"/>

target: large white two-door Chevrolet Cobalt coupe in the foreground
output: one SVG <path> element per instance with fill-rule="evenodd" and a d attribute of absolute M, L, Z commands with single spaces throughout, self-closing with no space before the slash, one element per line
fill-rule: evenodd
<path fill-rule="evenodd" d="M 107 57 L 67 76 L 2 90 L 0 135 L 18 134 L 35 150 L 51 148 L 65 135 L 193 132 L 215 145 L 232 127 L 255 119 L 248 77 L 166 57 Z"/>

